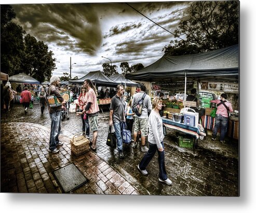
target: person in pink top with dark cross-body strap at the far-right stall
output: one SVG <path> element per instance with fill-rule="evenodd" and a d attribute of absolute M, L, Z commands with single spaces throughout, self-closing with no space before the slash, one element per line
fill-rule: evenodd
<path fill-rule="evenodd" d="M 215 125 L 212 132 L 212 140 L 216 140 L 216 135 L 219 127 L 221 128 L 221 143 L 225 143 L 225 135 L 228 124 L 228 114 L 233 112 L 233 108 L 230 102 L 226 101 L 227 95 L 222 93 L 220 100 L 212 100 L 211 103 L 215 103 L 217 105 L 217 111 L 215 116 Z"/>

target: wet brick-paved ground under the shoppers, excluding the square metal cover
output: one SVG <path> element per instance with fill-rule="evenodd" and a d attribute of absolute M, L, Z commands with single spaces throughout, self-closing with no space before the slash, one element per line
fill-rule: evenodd
<path fill-rule="evenodd" d="M 76 157 L 70 139 L 82 129 L 75 113 L 62 122 L 60 134 L 64 145 L 58 154 L 48 152 L 50 118 L 48 110 L 41 117 L 39 104 L 25 115 L 19 104 L 9 112 L 1 112 L 1 192 L 62 193 L 52 172 L 74 163 L 89 182 L 72 191 L 74 194 L 140 194 L 239 196 L 238 141 L 221 144 L 207 136 L 198 147 L 181 148 L 174 131 L 164 139 L 166 169 L 173 185 L 158 181 L 157 154 L 143 176 L 137 165 L 144 153 L 140 146 L 124 145 L 125 159 L 117 150 L 105 145 L 109 111 L 99 116 L 97 151 Z M 90 138 L 91 138 L 90 134 Z"/>

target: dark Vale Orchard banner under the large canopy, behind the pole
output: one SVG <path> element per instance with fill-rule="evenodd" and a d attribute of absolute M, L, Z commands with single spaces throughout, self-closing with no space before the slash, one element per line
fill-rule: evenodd
<path fill-rule="evenodd" d="M 194 87 L 194 81 L 186 82 L 186 89 L 190 90 Z M 176 91 L 176 90 L 184 90 L 185 82 L 184 81 L 176 81 L 176 82 L 156 82 L 152 83 L 152 90 L 167 90 L 167 91 Z"/>

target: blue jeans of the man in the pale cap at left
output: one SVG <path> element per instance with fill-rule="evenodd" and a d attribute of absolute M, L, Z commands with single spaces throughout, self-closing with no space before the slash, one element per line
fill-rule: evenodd
<path fill-rule="evenodd" d="M 61 111 L 55 111 L 50 113 L 51 118 L 51 133 L 50 133 L 50 147 L 52 151 L 59 143 L 59 135 L 61 130 Z"/>

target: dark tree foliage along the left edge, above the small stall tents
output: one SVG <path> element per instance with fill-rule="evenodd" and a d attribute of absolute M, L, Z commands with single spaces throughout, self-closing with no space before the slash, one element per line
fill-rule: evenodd
<path fill-rule="evenodd" d="M 9 76 L 24 72 L 40 82 L 49 80 L 56 69 L 53 52 L 12 22 L 15 17 L 10 5 L 1 5 L 1 70 Z"/>

